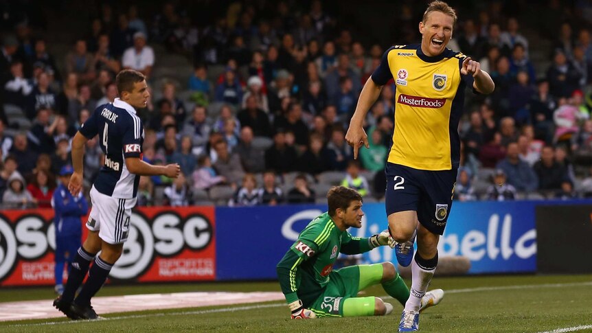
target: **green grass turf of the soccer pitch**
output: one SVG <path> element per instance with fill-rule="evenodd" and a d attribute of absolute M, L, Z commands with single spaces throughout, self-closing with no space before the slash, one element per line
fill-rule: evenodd
<path fill-rule="evenodd" d="M 592 275 L 435 278 L 431 288 L 443 288 L 448 293 L 439 306 L 422 313 L 420 332 L 540 332 L 592 325 L 592 284 L 585 284 L 587 282 L 592 282 Z M 507 288 L 467 290 L 500 286 Z M 106 286 L 100 295 L 277 288 L 277 284 L 272 282 Z M 380 286 L 369 288 L 365 293 L 385 295 Z M 52 290 L 47 288 L 0 289 L 1 301 L 51 297 Z M 292 321 L 288 319 L 288 310 L 282 303 L 271 302 L 262 304 L 266 308 L 232 312 L 216 310 L 228 307 L 192 308 L 107 314 L 105 317 L 109 320 L 95 322 L 45 319 L 0 323 L 0 332 L 396 332 L 402 306 L 393 299 L 387 301 L 395 305 L 394 314 L 388 317 Z M 214 312 L 207 313 L 212 309 Z M 56 324 L 38 325 L 48 322 Z M 23 324 L 26 326 L 23 327 Z"/>

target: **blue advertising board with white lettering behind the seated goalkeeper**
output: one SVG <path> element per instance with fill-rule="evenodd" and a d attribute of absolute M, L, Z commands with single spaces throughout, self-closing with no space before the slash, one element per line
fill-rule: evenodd
<path fill-rule="evenodd" d="M 468 257 L 472 274 L 536 271 L 537 203 L 454 203 L 446 232 L 440 238 L 440 257 Z M 216 207 L 217 278 L 275 279 L 275 265 L 299 231 L 326 209 L 326 205 Z M 361 229 L 349 229 L 353 236 L 367 237 L 387 228 L 384 204 L 366 204 L 363 211 Z M 362 261 L 396 259 L 394 250 L 383 246 L 364 253 Z"/>

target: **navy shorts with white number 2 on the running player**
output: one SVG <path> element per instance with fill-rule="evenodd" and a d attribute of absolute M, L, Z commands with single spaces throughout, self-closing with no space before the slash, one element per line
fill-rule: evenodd
<path fill-rule="evenodd" d="M 418 220 L 426 229 L 442 235 L 452 208 L 457 168 L 418 170 L 387 162 L 385 174 L 387 216 L 398 211 L 417 211 Z"/>

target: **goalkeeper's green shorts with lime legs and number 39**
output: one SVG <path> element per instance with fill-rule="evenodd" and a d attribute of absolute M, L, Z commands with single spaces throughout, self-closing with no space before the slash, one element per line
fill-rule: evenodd
<path fill-rule="evenodd" d="M 374 297 L 356 296 L 360 290 L 380 284 L 382 279 L 382 264 L 356 265 L 332 271 L 325 290 L 308 308 L 317 317 L 372 316 Z M 344 303 L 348 303 L 345 312 Z"/>

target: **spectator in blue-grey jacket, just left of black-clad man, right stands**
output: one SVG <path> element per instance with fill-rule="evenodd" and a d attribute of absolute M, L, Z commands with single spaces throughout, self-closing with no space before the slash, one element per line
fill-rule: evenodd
<path fill-rule="evenodd" d="M 538 178 L 530 165 L 520 159 L 518 143 L 510 142 L 506 147 L 505 159 L 497 163 L 497 169 L 503 170 L 508 183 L 519 192 L 532 192 L 538 188 Z"/>

